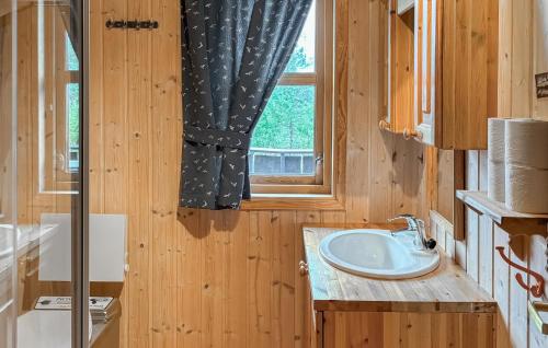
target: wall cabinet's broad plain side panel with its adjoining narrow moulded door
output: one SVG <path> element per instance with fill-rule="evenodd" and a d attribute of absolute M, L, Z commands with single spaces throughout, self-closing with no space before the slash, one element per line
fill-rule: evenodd
<path fill-rule="evenodd" d="M 418 137 L 447 150 L 487 148 L 498 115 L 498 0 L 416 0 Z"/>

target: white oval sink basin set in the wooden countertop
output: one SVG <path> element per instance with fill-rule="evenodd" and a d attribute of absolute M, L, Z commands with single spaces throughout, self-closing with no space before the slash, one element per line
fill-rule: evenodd
<path fill-rule="evenodd" d="M 439 265 L 439 253 L 418 251 L 414 232 L 395 236 L 386 230 L 350 230 L 327 235 L 320 255 L 336 268 L 358 276 L 380 279 L 420 277 Z"/>

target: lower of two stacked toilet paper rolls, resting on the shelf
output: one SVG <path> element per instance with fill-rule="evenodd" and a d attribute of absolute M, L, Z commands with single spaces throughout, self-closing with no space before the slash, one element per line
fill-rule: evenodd
<path fill-rule="evenodd" d="M 505 204 L 511 210 L 548 213 L 548 170 L 506 163 Z"/>

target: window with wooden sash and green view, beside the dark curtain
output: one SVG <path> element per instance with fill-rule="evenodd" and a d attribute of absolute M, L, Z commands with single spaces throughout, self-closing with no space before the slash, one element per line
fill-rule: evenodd
<path fill-rule="evenodd" d="M 315 0 L 249 152 L 253 194 L 330 194 L 333 2 Z"/>

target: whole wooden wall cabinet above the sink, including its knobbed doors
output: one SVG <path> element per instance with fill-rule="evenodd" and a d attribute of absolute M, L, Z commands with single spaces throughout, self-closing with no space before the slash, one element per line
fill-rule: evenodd
<path fill-rule="evenodd" d="M 390 0 L 380 127 L 441 149 L 486 149 L 498 115 L 499 0 Z"/>

